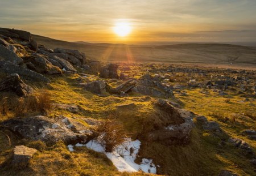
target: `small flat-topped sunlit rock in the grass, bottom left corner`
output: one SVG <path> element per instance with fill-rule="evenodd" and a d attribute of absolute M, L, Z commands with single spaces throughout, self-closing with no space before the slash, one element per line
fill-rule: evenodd
<path fill-rule="evenodd" d="M 27 166 L 28 161 L 36 152 L 37 150 L 34 148 L 28 148 L 24 145 L 17 145 L 13 151 L 13 161 L 11 164 L 19 167 Z"/>

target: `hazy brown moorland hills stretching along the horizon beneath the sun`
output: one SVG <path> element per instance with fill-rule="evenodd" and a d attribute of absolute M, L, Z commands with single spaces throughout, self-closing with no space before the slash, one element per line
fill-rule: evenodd
<path fill-rule="evenodd" d="M 125 45 L 67 42 L 33 35 L 48 48 L 77 49 L 89 59 L 108 62 L 172 62 L 256 65 L 256 48 L 232 44 Z"/>

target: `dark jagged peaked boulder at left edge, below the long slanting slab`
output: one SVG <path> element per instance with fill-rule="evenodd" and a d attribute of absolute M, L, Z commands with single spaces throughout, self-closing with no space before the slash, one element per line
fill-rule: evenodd
<path fill-rule="evenodd" d="M 11 91 L 15 92 L 16 95 L 20 97 L 26 97 L 28 94 L 32 93 L 34 89 L 23 83 L 18 74 L 11 74 L 0 83 L 0 91 Z"/>

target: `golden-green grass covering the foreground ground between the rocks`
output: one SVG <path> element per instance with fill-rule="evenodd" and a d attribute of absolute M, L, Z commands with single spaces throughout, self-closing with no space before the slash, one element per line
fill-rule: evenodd
<path fill-rule="evenodd" d="M 127 73 L 130 72 L 127 71 Z M 141 76 L 140 72 L 134 74 L 138 77 Z M 93 118 L 108 122 L 105 120 L 109 119 L 110 114 L 113 114 L 113 117 L 110 118 L 111 121 L 118 122 L 122 126 L 120 128 L 127 131 L 125 134 L 142 141 L 139 152 L 141 157 L 138 160 L 152 158 L 154 164 L 160 166 L 157 169 L 159 174 L 217 175 L 223 169 L 240 175 L 255 174 L 250 161 L 242 156 L 239 149 L 229 144 L 220 145 L 222 138 L 204 131 L 198 125 L 192 130 L 191 143 L 188 145 L 167 147 L 156 142 L 147 143 L 147 140 L 143 138 L 145 131 L 155 130 L 159 126 L 166 125 L 162 117 L 166 117 L 167 114 L 162 114 L 158 108 L 155 108 L 152 104 L 153 98 L 142 95 L 99 97 L 79 86 L 76 81 L 77 78 L 79 78 L 77 74 L 63 77 L 52 76 L 52 83 L 47 89 L 48 95 L 54 97 L 55 103 L 75 103 L 82 110 L 73 114 L 67 110 L 51 109 L 48 112 L 48 117 L 55 118 L 57 115 L 64 115 L 88 125 L 82 119 Z M 90 79 L 93 80 L 94 78 Z M 113 82 L 114 84 L 117 83 Z M 180 101 L 183 108 L 196 114 L 205 115 L 210 121 L 217 121 L 227 135 L 245 140 L 252 147 L 256 147 L 255 141 L 240 136 L 242 130 L 255 130 L 255 106 L 251 106 L 250 102 L 239 102 L 243 98 L 237 95 L 222 97 L 211 91 L 205 95 L 200 93 L 200 89 L 197 88 L 186 89 L 185 91 L 188 96 L 179 96 L 179 100 L 173 98 L 170 100 Z M 226 102 L 227 99 L 230 100 Z M 134 105 L 120 106 L 127 104 Z M 228 119 L 225 120 L 225 117 Z M 99 134 L 102 134 L 102 129 L 105 130 L 106 127 L 109 128 L 109 134 L 114 131 L 113 127 L 110 127 L 110 123 L 105 125 L 102 123 Z M 110 136 L 110 138 L 112 137 Z M 6 143 L 7 139 L 3 135 L 2 138 L 0 137 L 0 141 Z M 93 152 L 85 147 L 75 148 L 76 151 L 71 153 L 63 143 L 46 147 L 40 141 L 23 141 L 13 136 L 11 136 L 11 141 L 36 148 L 39 152 L 24 170 L 0 167 L 0 173 L 4 173 L 4 175 L 16 173 L 19 175 L 147 175 L 143 173 L 119 173 L 103 154 Z M 6 146 L 3 148 L 3 152 L 0 152 L 0 165 L 10 156 L 14 146 L 15 143 L 12 143 L 11 147 Z"/>

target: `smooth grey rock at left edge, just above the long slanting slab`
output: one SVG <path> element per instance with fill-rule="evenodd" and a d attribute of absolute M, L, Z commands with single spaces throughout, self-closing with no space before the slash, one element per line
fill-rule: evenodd
<path fill-rule="evenodd" d="M 16 55 L 14 52 L 10 51 L 2 45 L 0 45 L 0 57 L 5 59 L 6 61 L 15 63 L 16 65 L 19 65 L 23 62 L 22 58 L 18 57 L 18 55 Z"/>

